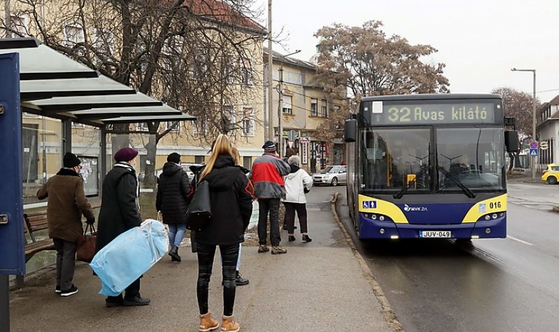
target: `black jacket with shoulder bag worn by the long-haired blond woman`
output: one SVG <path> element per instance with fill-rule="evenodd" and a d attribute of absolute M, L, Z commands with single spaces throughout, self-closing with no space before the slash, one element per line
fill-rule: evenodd
<path fill-rule="evenodd" d="M 252 215 L 252 185 L 233 157 L 217 157 L 212 172 L 203 178 L 210 184 L 212 222 L 196 232 L 196 243 L 232 245 L 245 241 Z"/>

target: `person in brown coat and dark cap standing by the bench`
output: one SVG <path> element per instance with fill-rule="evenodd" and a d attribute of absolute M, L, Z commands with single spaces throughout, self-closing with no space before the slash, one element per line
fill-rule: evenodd
<path fill-rule="evenodd" d="M 75 270 L 75 251 L 78 240 L 83 234 L 82 213 L 87 224 L 93 224 L 92 205 L 85 198 L 83 180 L 78 174 L 82 163 L 75 154 L 64 154 L 64 167 L 57 175 L 48 179 L 37 192 L 38 199 L 46 199 L 48 236 L 52 238 L 57 250 L 56 292 L 60 296 L 78 293 L 72 283 Z"/>

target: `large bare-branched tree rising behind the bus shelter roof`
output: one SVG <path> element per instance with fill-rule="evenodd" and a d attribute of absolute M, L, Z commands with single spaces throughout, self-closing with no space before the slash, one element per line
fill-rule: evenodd
<path fill-rule="evenodd" d="M 252 0 L 11 1 L 29 24 L 22 29 L 3 20 L 10 34 L 36 36 L 103 75 L 198 117 L 203 139 L 242 129 L 242 116 L 235 117 L 228 105 L 254 100 L 259 91 L 254 85 L 261 77 L 254 68 L 261 65 L 266 34 L 255 21 Z M 147 122 L 147 175 L 154 173 L 157 143 L 179 125 Z M 126 133 L 129 125 L 113 129 Z M 113 150 L 123 145 L 129 145 L 127 136 L 112 139 Z M 146 180 L 154 185 L 154 177 Z"/>

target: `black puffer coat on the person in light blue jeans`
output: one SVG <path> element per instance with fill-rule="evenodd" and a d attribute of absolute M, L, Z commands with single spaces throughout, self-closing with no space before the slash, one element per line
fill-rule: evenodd
<path fill-rule="evenodd" d="M 186 224 L 190 184 L 180 165 L 166 163 L 157 185 L 155 207 L 163 213 L 165 224 Z"/>

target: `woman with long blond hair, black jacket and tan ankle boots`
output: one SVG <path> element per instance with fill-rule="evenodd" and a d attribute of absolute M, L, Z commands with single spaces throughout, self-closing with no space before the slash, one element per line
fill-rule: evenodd
<path fill-rule="evenodd" d="M 239 331 L 239 324 L 233 319 L 235 271 L 239 244 L 245 240 L 245 229 L 252 214 L 252 192 L 245 173 L 235 166 L 231 142 L 227 136 L 217 136 L 210 159 L 198 178 L 198 183 L 202 181 L 208 181 L 210 187 L 212 221 L 204 229 L 197 231 L 195 237 L 198 245 L 198 331 L 212 331 L 219 326 L 208 309 L 208 286 L 217 245 L 223 262 L 222 331 Z"/>

